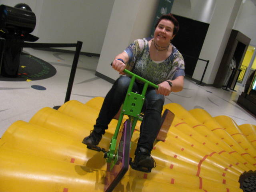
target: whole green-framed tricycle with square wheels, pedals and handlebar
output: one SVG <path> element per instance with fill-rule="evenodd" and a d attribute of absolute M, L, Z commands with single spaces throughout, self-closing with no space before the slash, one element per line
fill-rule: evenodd
<path fill-rule="evenodd" d="M 141 110 L 145 101 L 145 94 L 147 88 L 148 86 L 152 86 L 153 88 L 158 89 L 158 86 L 156 84 L 149 82 L 148 80 L 130 72 L 129 70 L 125 69 L 124 73 L 131 76 L 131 81 L 108 151 L 105 151 L 104 148 L 100 148 L 98 146 L 87 146 L 87 148 L 89 149 L 104 152 L 104 158 L 106 158 L 107 162 L 107 172 L 104 188 L 105 192 L 112 191 L 118 184 L 118 182 L 122 179 L 124 174 L 127 172 L 129 165 L 132 166 L 132 158 L 130 158 L 131 138 L 137 121 L 142 121 L 143 119 L 143 114 L 141 113 Z M 132 87 L 135 80 L 144 83 L 141 94 L 132 92 Z M 127 115 L 128 119 L 121 127 L 124 115 Z M 174 114 L 170 112 L 170 110 L 166 109 L 162 116 L 161 128 L 156 138 L 157 140 L 165 140 L 173 118 Z M 140 171 L 151 172 L 151 168 L 150 170 L 148 170 L 148 168 L 145 168 L 145 170 L 143 170 L 142 168 Z"/>

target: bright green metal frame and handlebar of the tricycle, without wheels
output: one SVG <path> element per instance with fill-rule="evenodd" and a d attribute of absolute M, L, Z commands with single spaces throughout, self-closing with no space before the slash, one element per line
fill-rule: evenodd
<path fill-rule="evenodd" d="M 144 79 L 126 69 L 124 70 L 124 72 L 126 74 L 128 74 L 129 76 L 131 76 L 131 82 L 128 87 L 127 93 L 126 93 L 126 97 L 124 100 L 121 114 L 118 119 L 118 123 L 116 126 L 114 136 L 112 137 L 112 140 L 110 142 L 110 148 L 108 149 L 108 153 L 106 155 L 106 162 L 108 162 L 108 163 L 112 162 L 111 169 L 112 169 L 112 167 L 114 167 L 114 165 L 117 162 L 116 151 L 118 151 L 118 150 L 116 150 L 116 140 L 117 140 L 118 132 L 120 130 L 120 126 L 122 124 L 124 115 L 128 115 L 129 120 L 132 122 L 132 133 L 133 133 L 137 121 L 142 120 L 142 118 L 140 117 L 140 113 L 142 110 L 142 106 L 144 104 L 145 94 L 146 94 L 148 86 L 152 86 L 153 88 L 158 89 L 158 86 L 156 84 L 149 82 L 148 80 L 146 80 L 146 79 Z M 144 83 L 144 87 L 143 87 L 141 94 L 132 92 L 132 87 L 134 85 L 135 79 Z"/>

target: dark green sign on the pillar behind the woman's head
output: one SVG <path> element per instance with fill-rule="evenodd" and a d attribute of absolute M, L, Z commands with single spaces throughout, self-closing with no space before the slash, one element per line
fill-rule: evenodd
<path fill-rule="evenodd" d="M 158 9 L 156 11 L 156 16 L 155 16 L 154 23 L 153 23 L 153 26 L 151 29 L 151 33 L 150 33 L 151 37 L 154 36 L 155 25 L 156 25 L 158 19 L 163 14 L 168 14 L 171 12 L 173 2 L 174 2 L 174 0 L 159 0 Z"/>

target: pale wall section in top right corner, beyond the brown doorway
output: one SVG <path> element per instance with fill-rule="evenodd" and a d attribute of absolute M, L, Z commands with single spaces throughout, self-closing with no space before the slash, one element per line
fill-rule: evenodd
<path fill-rule="evenodd" d="M 233 28 L 248 36 L 250 44 L 256 46 L 256 6 L 251 0 L 242 3 Z"/>

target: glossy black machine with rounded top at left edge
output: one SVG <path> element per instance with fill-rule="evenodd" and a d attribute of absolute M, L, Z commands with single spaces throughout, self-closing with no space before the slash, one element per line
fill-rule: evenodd
<path fill-rule="evenodd" d="M 36 15 L 26 4 L 17 4 L 14 7 L 0 5 L 0 38 L 5 40 L 2 50 L 2 64 L 0 75 L 16 77 L 22 47 L 18 43 L 24 41 L 35 42 L 39 38 L 30 34 L 36 27 Z"/>

